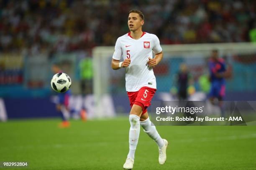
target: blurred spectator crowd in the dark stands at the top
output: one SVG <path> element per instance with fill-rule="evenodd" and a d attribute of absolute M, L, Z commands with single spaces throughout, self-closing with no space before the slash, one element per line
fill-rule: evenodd
<path fill-rule="evenodd" d="M 128 32 L 128 11 L 162 44 L 246 42 L 256 28 L 252 0 L 0 0 L 0 52 L 90 55 Z"/>

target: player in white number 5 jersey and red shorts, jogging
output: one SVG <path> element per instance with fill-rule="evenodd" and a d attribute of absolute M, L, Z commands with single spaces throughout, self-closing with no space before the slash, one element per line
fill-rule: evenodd
<path fill-rule="evenodd" d="M 153 72 L 163 58 L 162 48 L 156 35 L 142 31 L 144 15 L 139 10 L 131 10 L 128 16 L 130 32 L 119 37 L 115 44 L 115 52 L 111 67 L 118 70 L 126 68 L 125 87 L 130 100 L 131 112 L 129 121 L 129 153 L 123 165 L 131 170 L 140 134 L 140 125 L 150 138 L 159 146 L 159 163 L 166 161 L 167 140 L 162 139 L 148 117 L 147 107 L 156 92 L 156 77 Z M 152 51 L 155 56 L 152 58 Z M 120 60 L 122 60 L 120 62 Z"/>

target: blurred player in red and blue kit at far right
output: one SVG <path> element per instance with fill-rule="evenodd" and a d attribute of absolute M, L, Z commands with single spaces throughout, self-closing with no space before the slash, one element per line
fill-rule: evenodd
<path fill-rule="evenodd" d="M 214 104 L 214 100 L 218 99 L 221 116 L 224 117 L 223 98 L 225 97 L 225 77 L 226 65 L 222 58 L 218 57 L 218 50 L 212 50 L 212 55 L 209 61 L 210 68 L 210 101 Z"/>

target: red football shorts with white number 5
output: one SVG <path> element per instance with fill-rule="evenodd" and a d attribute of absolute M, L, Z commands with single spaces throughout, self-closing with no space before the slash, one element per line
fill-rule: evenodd
<path fill-rule="evenodd" d="M 151 105 L 151 99 L 153 98 L 156 89 L 150 87 L 141 87 L 140 90 L 136 92 L 127 92 L 130 106 L 139 105 L 142 108 L 142 115 L 147 112 L 147 107 Z"/>

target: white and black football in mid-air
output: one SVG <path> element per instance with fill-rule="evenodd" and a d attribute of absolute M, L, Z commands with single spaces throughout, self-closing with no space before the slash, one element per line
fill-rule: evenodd
<path fill-rule="evenodd" d="M 56 92 L 66 92 L 71 86 L 69 75 L 64 72 L 55 74 L 51 79 L 51 88 Z"/>

